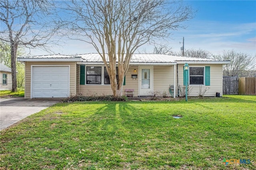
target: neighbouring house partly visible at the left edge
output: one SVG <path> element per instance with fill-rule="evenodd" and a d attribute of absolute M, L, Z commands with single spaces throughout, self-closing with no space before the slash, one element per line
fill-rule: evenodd
<path fill-rule="evenodd" d="M 12 70 L 0 63 L 0 90 L 12 90 Z"/>

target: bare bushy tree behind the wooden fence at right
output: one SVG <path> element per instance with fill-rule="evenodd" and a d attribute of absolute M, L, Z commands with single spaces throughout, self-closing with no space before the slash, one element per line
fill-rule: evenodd
<path fill-rule="evenodd" d="M 215 58 L 230 60 L 230 64 L 223 66 L 224 76 L 250 76 L 250 73 L 253 72 L 252 70 L 256 69 L 256 55 L 230 50 L 224 51 Z"/>

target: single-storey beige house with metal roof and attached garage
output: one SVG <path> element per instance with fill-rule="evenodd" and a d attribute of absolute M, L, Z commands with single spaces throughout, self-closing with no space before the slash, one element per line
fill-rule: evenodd
<path fill-rule="evenodd" d="M 97 53 L 82 55 L 42 55 L 19 57 L 25 62 L 25 98 L 63 98 L 75 94 L 111 95 L 108 73 Z M 173 96 L 178 96 L 178 86 L 183 86 L 183 66 L 189 64 L 189 96 L 222 96 L 222 66 L 230 61 L 182 57 L 164 54 L 134 54 L 125 76 L 126 89 L 134 97 L 166 92 L 170 86 Z M 136 78 L 137 76 L 137 78 Z M 117 75 L 118 77 L 118 75 Z"/>

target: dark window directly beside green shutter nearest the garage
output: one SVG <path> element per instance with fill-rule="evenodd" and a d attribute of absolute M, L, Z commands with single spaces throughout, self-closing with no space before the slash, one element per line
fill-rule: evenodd
<path fill-rule="evenodd" d="M 101 84 L 101 67 L 86 67 L 86 84 Z"/>

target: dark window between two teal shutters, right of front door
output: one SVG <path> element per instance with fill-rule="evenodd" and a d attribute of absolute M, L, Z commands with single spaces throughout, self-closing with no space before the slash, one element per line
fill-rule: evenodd
<path fill-rule="evenodd" d="M 189 68 L 189 84 L 204 84 L 204 67 Z"/>

